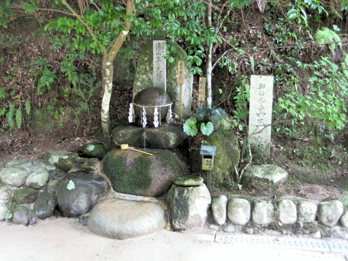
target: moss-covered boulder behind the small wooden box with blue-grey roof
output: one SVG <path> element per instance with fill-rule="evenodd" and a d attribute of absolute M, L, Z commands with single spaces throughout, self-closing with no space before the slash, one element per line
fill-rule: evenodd
<path fill-rule="evenodd" d="M 211 171 L 211 179 L 214 183 L 221 183 L 227 175 L 234 173 L 234 167 L 239 162 L 239 145 L 236 135 L 230 131 L 213 132 L 206 139 L 207 145 L 216 146 L 216 157 L 214 168 Z M 199 154 L 200 147 L 193 149 L 190 153 L 190 168 L 192 173 L 205 174 L 201 169 L 202 159 Z"/>

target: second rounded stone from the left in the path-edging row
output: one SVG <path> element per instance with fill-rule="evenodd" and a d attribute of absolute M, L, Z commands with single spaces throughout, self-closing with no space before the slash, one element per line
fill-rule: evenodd
<path fill-rule="evenodd" d="M 251 216 L 249 201 L 242 198 L 232 198 L 227 205 L 228 219 L 236 225 L 245 225 Z"/>

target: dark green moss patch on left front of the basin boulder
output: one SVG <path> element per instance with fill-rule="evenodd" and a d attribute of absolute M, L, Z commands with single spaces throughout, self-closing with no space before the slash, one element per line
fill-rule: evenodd
<path fill-rule="evenodd" d="M 103 159 L 103 172 L 109 177 L 115 191 L 134 194 L 138 190 L 150 188 L 151 164 L 148 157 L 140 156 L 134 160 L 129 169 L 126 169 L 126 159 L 123 156 L 114 157 L 111 151 Z"/>

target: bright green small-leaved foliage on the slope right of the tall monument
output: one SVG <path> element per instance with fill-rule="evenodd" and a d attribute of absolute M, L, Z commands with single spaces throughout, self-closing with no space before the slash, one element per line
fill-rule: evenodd
<path fill-rule="evenodd" d="M 320 122 L 324 128 L 344 129 L 347 124 L 347 63 L 339 68 L 329 57 L 321 57 L 312 64 L 296 63 L 309 74 L 309 89 L 303 93 L 294 88 L 280 97 L 276 105 L 278 114 L 282 114 L 283 120 L 290 117 L 294 129 L 298 124 L 305 125 L 308 118 Z"/>

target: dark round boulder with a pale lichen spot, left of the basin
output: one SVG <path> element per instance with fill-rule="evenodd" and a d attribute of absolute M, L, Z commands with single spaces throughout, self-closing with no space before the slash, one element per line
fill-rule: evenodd
<path fill-rule="evenodd" d="M 105 196 L 108 181 L 95 173 L 74 171 L 59 182 L 58 207 L 64 217 L 78 217 L 88 211 Z"/>

